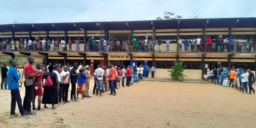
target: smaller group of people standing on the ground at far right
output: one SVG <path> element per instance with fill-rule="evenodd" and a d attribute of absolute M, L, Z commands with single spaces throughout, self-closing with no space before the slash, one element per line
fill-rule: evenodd
<path fill-rule="evenodd" d="M 235 90 L 239 90 L 240 92 L 247 94 L 255 94 L 255 90 L 252 87 L 252 84 L 255 84 L 255 75 L 252 73 L 250 69 L 242 69 L 242 68 L 232 68 L 230 71 L 228 68 L 214 68 L 213 70 L 207 69 L 207 73 L 203 75 L 203 82 L 211 82 L 220 80 L 220 85 L 223 87 L 231 87 Z M 230 80 L 228 85 L 228 80 Z M 239 84 L 239 86 L 238 86 Z M 248 90 L 249 87 L 249 90 Z"/>

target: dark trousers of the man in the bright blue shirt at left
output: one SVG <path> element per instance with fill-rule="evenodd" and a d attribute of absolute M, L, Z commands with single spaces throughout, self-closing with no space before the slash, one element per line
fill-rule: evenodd
<path fill-rule="evenodd" d="M 21 95 L 18 89 L 11 90 L 11 114 L 15 114 L 16 102 L 18 104 L 18 110 L 21 115 L 25 114 L 25 111 L 22 107 Z"/>

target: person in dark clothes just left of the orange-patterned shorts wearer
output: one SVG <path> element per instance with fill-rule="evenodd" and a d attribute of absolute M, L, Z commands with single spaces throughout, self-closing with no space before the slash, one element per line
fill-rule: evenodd
<path fill-rule="evenodd" d="M 71 82 L 71 100 L 70 101 L 73 101 L 73 102 L 79 102 L 79 100 L 77 100 L 76 96 L 75 96 L 75 92 L 76 92 L 76 83 L 77 83 L 77 80 L 78 80 L 78 75 L 79 73 L 77 73 L 77 70 L 78 69 L 78 63 L 74 63 L 74 68 L 72 68 L 72 70 L 70 71 L 70 82 Z M 74 97 L 74 99 L 73 99 Z"/>

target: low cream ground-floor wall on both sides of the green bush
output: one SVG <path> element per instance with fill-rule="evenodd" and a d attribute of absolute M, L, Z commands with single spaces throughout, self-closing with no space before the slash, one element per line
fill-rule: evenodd
<path fill-rule="evenodd" d="M 156 68 L 154 73 L 155 78 L 170 78 L 171 73 L 168 72 L 169 69 Z M 186 77 L 184 79 L 193 79 L 201 80 L 202 79 L 202 70 L 184 70 L 183 72 Z M 149 71 L 149 78 L 151 78 L 151 71 Z"/>

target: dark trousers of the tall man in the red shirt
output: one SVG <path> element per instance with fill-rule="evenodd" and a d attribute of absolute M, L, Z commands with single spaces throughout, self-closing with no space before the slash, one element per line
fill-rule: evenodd
<path fill-rule="evenodd" d="M 23 100 L 23 109 L 27 112 L 31 111 L 31 102 L 33 100 L 33 94 L 34 94 L 35 86 L 26 86 L 25 85 L 25 97 Z"/>

